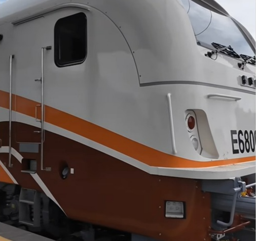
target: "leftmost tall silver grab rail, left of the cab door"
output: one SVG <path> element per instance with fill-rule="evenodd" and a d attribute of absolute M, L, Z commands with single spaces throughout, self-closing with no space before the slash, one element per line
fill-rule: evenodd
<path fill-rule="evenodd" d="M 13 59 L 14 55 L 10 55 L 10 92 L 9 92 L 9 162 L 8 166 L 13 167 L 12 164 L 12 94 L 13 94 Z"/>

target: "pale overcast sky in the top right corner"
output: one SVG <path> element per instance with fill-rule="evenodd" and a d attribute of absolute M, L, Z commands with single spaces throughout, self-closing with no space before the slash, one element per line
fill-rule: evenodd
<path fill-rule="evenodd" d="M 255 0 L 215 0 L 232 17 L 248 29 L 256 39 L 256 1 Z"/>

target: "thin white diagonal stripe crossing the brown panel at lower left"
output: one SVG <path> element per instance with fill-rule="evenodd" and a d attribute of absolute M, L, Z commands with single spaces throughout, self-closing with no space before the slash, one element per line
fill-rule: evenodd
<path fill-rule="evenodd" d="M 0 153 L 9 153 L 9 147 L 2 147 L 2 148 L 0 148 Z M 12 155 L 21 163 L 23 157 L 13 148 L 12 148 Z M 30 173 L 30 175 L 35 180 L 35 182 L 38 183 L 38 185 L 41 187 L 41 189 L 45 192 L 46 196 L 48 198 L 50 198 L 53 202 L 55 202 L 61 208 L 61 206 L 59 205 L 57 200 L 54 198 L 54 196 L 51 194 L 50 190 L 45 185 L 45 183 L 42 181 L 40 176 L 37 173 L 34 173 L 34 174 Z M 18 183 L 16 183 L 16 184 L 18 184 Z M 64 210 L 62 208 L 61 208 L 61 210 L 64 212 Z"/>

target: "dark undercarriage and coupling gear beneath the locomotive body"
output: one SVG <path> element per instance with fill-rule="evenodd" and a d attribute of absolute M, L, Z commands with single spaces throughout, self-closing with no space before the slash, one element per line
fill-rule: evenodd
<path fill-rule="evenodd" d="M 197 181 L 211 195 L 210 239 L 254 241 L 255 175 Z M 69 219 L 44 193 L 8 183 L 0 183 L 0 222 L 58 241 L 156 240 Z"/>

